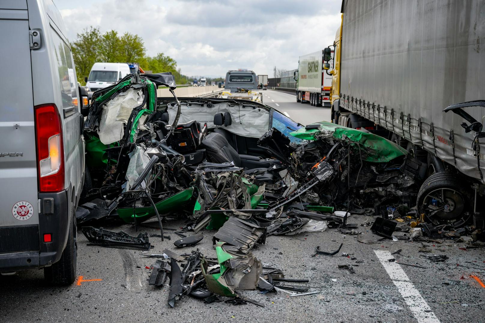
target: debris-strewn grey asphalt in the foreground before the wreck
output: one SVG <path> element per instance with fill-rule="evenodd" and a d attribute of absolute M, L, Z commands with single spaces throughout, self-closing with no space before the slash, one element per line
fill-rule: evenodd
<path fill-rule="evenodd" d="M 360 226 L 372 217 L 352 215 L 348 223 Z M 156 222 L 148 223 L 156 226 Z M 165 223 L 179 228 L 183 221 Z M 136 235 L 134 226 L 105 226 Z M 156 233 L 156 229 L 141 230 Z M 169 232 L 169 231 L 166 231 Z M 215 257 L 212 235 L 204 230 L 196 247 L 206 257 Z M 150 238 L 150 253 L 168 248 L 178 254 L 196 247 L 177 249 L 171 240 Z M 384 240 L 377 244 L 358 242 L 356 235 L 341 234 L 335 228 L 297 236 L 270 236 L 254 254 L 263 265 L 283 270 L 287 278 L 307 278 L 317 294 L 290 297 L 284 292 L 260 294 L 243 291 L 265 307 L 253 304 L 234 306 L 224 302 L 204 304 L 184 297 L 175 308 L 167 305 L 169 287 L 149 286 L 147 279 L 154 258 L 138 250 L 88 246 L 78 234 L 79 283 L 70 287 L 49 287 L 42 271 L 1 276 L 1 322 L 483 322 L 485 313 L 484 249 L 466 248 L 461 242 L 442 243 Z M 323 251 L 340 252 L 332 257 L 312 258 L 315 246 Z M 391 255 L 402 249 L 399 254 Z M 447 255 L 445 262 L 432 262 L 425 256 Z M 396 259 L 389 262 L 389 259 Z M 399 263 L 402 264 L 399 264 Z M 407 264 L 407 265 L 404 265 Z M 351 265 L 355 273 L 339 269 Z M 412 267 L 417 265 L 420 267 Z M 422 268 L 421 268 L 422 267 Z M 472 276 L 478 278 L 476 280 Z M 90 279 L 101 279 L 89 281 Z M 166 282 L 168 284 L 168 280 Z M 485 286 L 485 285 L 484 285 Z"/>

